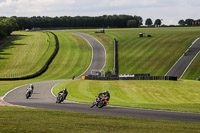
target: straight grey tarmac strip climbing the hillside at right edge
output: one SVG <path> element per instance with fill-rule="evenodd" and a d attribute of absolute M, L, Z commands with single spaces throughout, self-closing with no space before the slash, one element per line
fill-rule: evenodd
<path fill-rule="evenodd" d="M 190 46 L 189 49 L 180 57 L 180 59 L 172 66 L 165 76 L 175 76 L 178 79 L 182 77 L 187 68 L 190 66 L 200 51 L 200 38 Z"/>

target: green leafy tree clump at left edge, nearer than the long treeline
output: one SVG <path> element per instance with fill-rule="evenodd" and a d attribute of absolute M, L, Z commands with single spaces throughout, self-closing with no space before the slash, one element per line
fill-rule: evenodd
<path fill-rule="evenodd" d="M 0 38 L 10 35 L 14 30 L 17 29 L 18 24 L 16 18 L 0 18 Z"/>

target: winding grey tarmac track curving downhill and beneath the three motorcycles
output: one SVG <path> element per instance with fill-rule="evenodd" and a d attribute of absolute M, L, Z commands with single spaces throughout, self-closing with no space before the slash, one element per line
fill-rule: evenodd
<path fill-rule="evenodd" d="M 103 69 L 105 65 L 105 49 L 99 43 L 99 41 L 83 33 L 73 32 L 73 34 L 77 34 L 86 39 L 93 48 L 92 62 L 90 64 L 90 67 L 83 75 L 87 75 L 88 73 L 91 72 L 91 70 Z M 79 76 L 78 79 L 80 79 L 80 77 L 81 76 Z M 52 95 L 51 88 L 63 81 L 67 80 L 55 80 L 55 81 L 33 83 L 35 89 L 33 95 L 29 99 L 25 98 L 25 92 L 28 85 L 23 85 L 8 92 L 3 97 L 3 100 L 13 105 L 33 107 L 33 108 L 66 110 L 72 112 L 82 112 L 82 113 L 102 114 L 102 115 L 112 115 L 112 116 L 127 116 L 127 117 L 146 118 L 155 120 L 200 122 L 199 113 L 157 111 L 157 110 L 123 108 L 114 106 L 106 106 L 99 109 L 96 107 L 90 108 L 89 104 L 75 103 L 70 101 L 65 101 L 62 104 L 56 104 L 55 103 L 56 98 L 55 96 Z M 92 102 L 93 101 L 91 101 L 91 103 Z"/>

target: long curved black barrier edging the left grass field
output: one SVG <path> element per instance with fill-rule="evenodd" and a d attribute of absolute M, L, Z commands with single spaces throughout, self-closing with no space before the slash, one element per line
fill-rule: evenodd
<path fill-rule="evenodd" d="M 51 62 L 53 61 L 53 59 L 56 57 L 58 50 L 59 50 L 58 37 L 53 32 L 50 32 L 50 33 L 54 35 L 54 38 L 56 40 L 56 48 L 55 48 L 53 54 L 51 55 L 51 57 L 48 59 L 48 61 L 45 63 L 45 65 L 38 72 L 31 74 L 31 75 L 27 75 L 27 76 L 22 76 L 22 77 L 19 77 L 19 78 L 0 78 L 0 81 L 31 79 L 31 78 L 35 78 L 37 76 L 40 76 L 42 73 L 44 73 L 48 69 L 48 67 L 51 64 Z"/>

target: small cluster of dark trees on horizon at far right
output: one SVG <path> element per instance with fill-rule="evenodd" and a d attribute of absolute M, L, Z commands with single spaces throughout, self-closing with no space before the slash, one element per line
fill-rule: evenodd
<path fill-rule="evenodd" d="M 186 20 L 179 20 L 178 24 L 180 26 L 200 26 L 200 19 L 194 20 L 194 19 L 186 19 Z"/>

